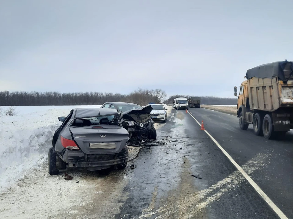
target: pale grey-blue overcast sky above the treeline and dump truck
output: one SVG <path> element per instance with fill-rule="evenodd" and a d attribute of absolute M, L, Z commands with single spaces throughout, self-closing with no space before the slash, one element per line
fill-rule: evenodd
<path fill-rule="evenodd" d="M 293 1 L 0 0 L 0 90 L 234 97 L 293 61 Z"/>

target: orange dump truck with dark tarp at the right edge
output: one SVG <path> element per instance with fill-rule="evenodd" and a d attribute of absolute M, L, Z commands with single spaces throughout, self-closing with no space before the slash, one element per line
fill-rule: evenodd
<path fill-rule="evenodd" d="M 277 61 L 251 68 L 240 86 L 237 117 L 240 128 L 253 124 L 255 135 L 282 138 L 293 128 L 293 65 Z M 237 96 L 237 86 L 234 87 Z"/>

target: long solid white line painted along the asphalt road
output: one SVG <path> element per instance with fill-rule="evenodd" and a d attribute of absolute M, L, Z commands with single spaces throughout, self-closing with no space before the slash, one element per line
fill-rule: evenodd
<path fill-rule="evenodd" d="M 192 116 L 192 118 L 197 122 L 197 124 L 199 126 L 201 126 L 201 123 L 199 123 L 196 118 L 194 118 L 193 115 L 191 115 L 191 113 L 189 111 L 187 111 L 190 116 Z M 214 137 L 212 137 L 211 134 L 208 133 L 207 130 L 204 130 L 205 133 L 208 134 L 208 136 L 215 142 L 215 144 L 218 146 L 218 148 L 221 149 L 221 151 L 224 153 L 224 155 L 226 155 L 226 157 L 233 163 L 233 165 L 239 170 L 239 172 L 241 172 L 241 174 L 244 176 L 244 178 L 250 183 L 250 185 L 255 189 L 255 191 L 257 191 L 257 193 L 259 193 L 260 196 L 262 196 L 262 198 L 265 200 L 265 202 L 269 205 L 269 207 L 271 207 L 273 209 L 273 211 L 281 218 L 281 219 L 288 219 L 288 217 L 277 207 L 277 205 L 275 205 L 275 203 L 273 203 L 272 200 L 270 200 L 270 198 L 266 195 L 266 193 L 264 193 L 264 191 L 262 191 L 262 189 L 250 178 L 250 176 L 247 175 L 247 173 L 236 163 L 236 161 L 234 161 L 234 159 L 227 153 L 227 151 L 225 151 L 224 148 L 222 148 L 222 146 L 215 140 Z"/>

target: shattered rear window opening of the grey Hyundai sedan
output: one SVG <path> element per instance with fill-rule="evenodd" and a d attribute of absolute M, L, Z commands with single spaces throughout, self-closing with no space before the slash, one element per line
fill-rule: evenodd
<path fill-rule="evenodd" d="M 93 125 L 120 125 L 118 122 L 118 114 L 80 117 L 76 118 L 71 126 L 74 127 L 91 127 Z"/>

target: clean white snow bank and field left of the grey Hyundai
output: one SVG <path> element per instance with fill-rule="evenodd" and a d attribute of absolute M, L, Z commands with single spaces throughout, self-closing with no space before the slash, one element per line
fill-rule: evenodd
<path fill-rule="evenodd" d="M 85 106 L 19 106 L 19 115 L 0 118 L 0 193 L 43 169 L 53 134 L 61 124 L 58 116 L 67 116 L 75 107 Z"/>

